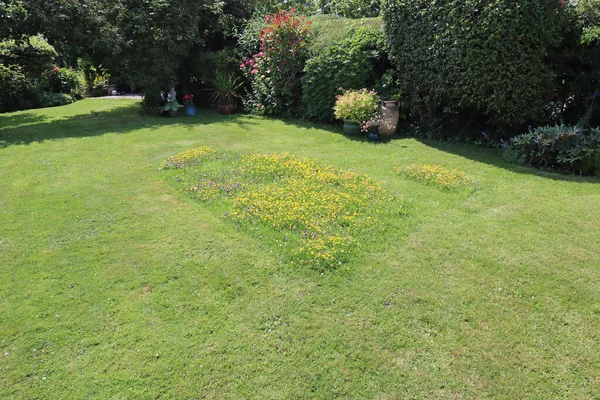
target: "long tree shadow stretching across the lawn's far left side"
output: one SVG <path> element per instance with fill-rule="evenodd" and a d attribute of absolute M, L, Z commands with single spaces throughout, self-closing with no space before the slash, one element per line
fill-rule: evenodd
<path fill-rule="evenodd" d="M 110 110 L 89 111 L 62 118 L 31 112 L 0 115 L 0 148 L 28 145 L 34 142 L 65 138 L 100 136 L 106 133 L 128 133 L 139 129 L 159 129 L 164 126 L 197 126 L 216 122 L 231 122 L 244 128 L 258 125 L 243 115 L 220 115 L 214 110 L 199 110 L 194 117 L 140 115 L 137 103 Z"/>

